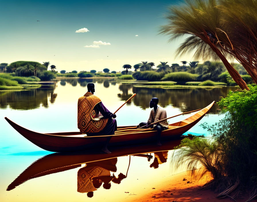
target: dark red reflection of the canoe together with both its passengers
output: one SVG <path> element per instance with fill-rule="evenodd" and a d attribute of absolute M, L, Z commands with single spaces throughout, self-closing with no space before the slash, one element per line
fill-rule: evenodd
<path fill-rule="evenodd" d="M 8 187 L 7 191 L 14 189 L 20 184 L 41 176 L 54 174 L 73 168 L 78 168 L 82 164 L 86 164 L 80 168 L 77 173 L 77 191 L 87 193 L 88 197 L 93 196 L 93 192 L 99 187 L 110 189 L 112 183 L 120 184 L 127 177 L 123 173 L 115 173 L 117 171 L 117 157 L 120 156 L 138 156 L 145 157 L 145 162 L 153 158 L 150 153 L 155 156 L 152 167 L 158 168 L 159 164 L 167 161 L 168 150 L 174 149 L 179 145 L 181 140 L 186 137 L 179 137 L 172 141 L 166 141 L 162 146 L 153 144 L 113 147 L 111 154 L 99 153 L 53 153 L 48 154 L 37 161 L 33 162 L 26 168 Z M 129 164 L 130 165 L 130 161 Z M 129 169 L 129 168 L 128 168 Z M 111 172 L 114 172 L 111 174 Z"/>

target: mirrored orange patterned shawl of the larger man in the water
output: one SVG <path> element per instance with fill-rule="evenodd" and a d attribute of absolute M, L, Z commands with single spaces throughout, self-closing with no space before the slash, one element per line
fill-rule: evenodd
<path fill-rule="evenodd" d="M 78 183 L 77 191 L 80 193 L 87 193 L 90 191 L 96 191 L 92 183 L 92 178 L 96 176 L 110 176 L 110 171 L 99 166 L 89 167 L 87 166 L 80 168 L 78 171 Z"/>

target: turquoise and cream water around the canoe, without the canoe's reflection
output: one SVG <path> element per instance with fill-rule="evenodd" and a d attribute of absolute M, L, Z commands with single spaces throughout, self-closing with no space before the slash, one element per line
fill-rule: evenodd
<path fill-rule="evenodd" d="M 57 201 L 59 199 L 62 201 L 72 201 L 72 199 L 97 201 L 102 199 L 102 194 L 106 196 L 107 201 L 112 201 L 110 197 L 115 193 L 114 191 L 120 191 L 122 194 L 117 199 L 119 201 L 128 197 L 123 194 L 123 190 L 131 189 L 129 188 L 130 183 L 139 183 L 143 189 L 148 186 L 149 178 L 147 176 L 156 176 L 155 180 L 158 181 L 159 178 L 170 174 L 169 156 L 167 163 L 161 164 L 158 169 L 149 167 L 149 164 L 153 163 L 153 159 L 148 162 L 145 159 L 142 161 L 142 157 L 134 156 L 132 158 L 134 160 L 131 162 L 131 171 L 129 171 L 133 173 L 130 178 L 125 178 L 120 184 L 114 183 L 110 190 L 100 187 L 97 190 L 98 194 L 94 194 L 92 198 L 87 198 L 85 194 L 78 193 L 76 190 L 79 168 L 32 179 L 11 191 L 5 191 L 7 186 L 31 163 L 51 152 L 37 147 L 22 137 L 5 121 L 4 117 L 8 117 L 22 127 L 40 133 L 78 131 L 77 100 L 87 92 L 87 82 L 95 83 L 95 95 L 111 112 L 114 112 L 133 93 L 137 93 L 131 102 L 116 113 L 118 126 L 146 122 L 151 111 L 148 106 L 152 97 L 158 97 L 160 106 L 167 111 L 167 116 L 173 116 L 181 112 L 203 108 L 213 100 L 219 101 L 220 96 L 225 97 L 230 90 L 233 90 L 233 88 L 227 87 L 215 89 L 137 88 L 131 84 L 120 84 L 113 80 L 62 79 L 56 83 L 53 89 L 0 91 L 0 194 L 3 199 L 1 201 L 15 201 L 17 198 L 18 201 L 34 201 L 36 198 L 37 201 L 45 201 L 50 198 L 56 198 Z M 170 119 L 169 123 L 183 120 L 188 116 L 190 114 Z M 210 134 L 203 130 L 200 124 L 204 122 L 214 124 L 221 118 L 222 116 L 217 114 L 217 106 L 214 106 L 210 110 L 210 114 L 185 134 L 209 136 Z M 117 170 L 126 170 L 128 158 L 128 156 L 118 158 Z M 124 173 L 124 171 L 122 172 Z M 140 182 L 137 180 L 139 178 Z M 138 188 L 133 191 L 140 190 Z M 48 197 L 44 194 L 45 192 L 49 192 Z M 69 195 L 69 197 L 64 197 L 64 195 Z"/>

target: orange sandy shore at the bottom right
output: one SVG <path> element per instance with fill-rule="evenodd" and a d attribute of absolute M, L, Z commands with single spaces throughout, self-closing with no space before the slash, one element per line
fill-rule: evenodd
<path fill-rule="evenodd" d="M 183 180 L 183 179 L 186 180 Z M 211 190 L 200 190 L 200 186 L 205 184 L 210 177 L 202 178 L 199 181 L 194 181 L 187 174 L 187 172 L 182 172 L 176 175 L 167 177 L 165 182 L 158 184 L 153 187 L 153 189 L 144 193 L 143 195 L 138 195 L 131 198 L 130 201 L 135 202 L 149 202 L 149 201 L 167 201 L 167 202 L 188 202 L 188 201 L 198 201 L 198 202 L 231 202 L 233 201 L 229 197 L 225 199 L 217 199 Z M 189 182 L 189 183 L 188 183 Z M 238 199 L 237 202 L 246 201 L 247 198 Z"/>

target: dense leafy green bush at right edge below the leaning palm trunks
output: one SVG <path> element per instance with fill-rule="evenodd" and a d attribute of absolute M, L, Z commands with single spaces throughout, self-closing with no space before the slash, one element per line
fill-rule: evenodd
<path fill-rule="evenodd" d="M 250 185 L 257 176 L 257 86 L 237 90 L 218 102 L 225 118 L 204 125 L 221 145 L 222 166 L 228 180 Z"/>

